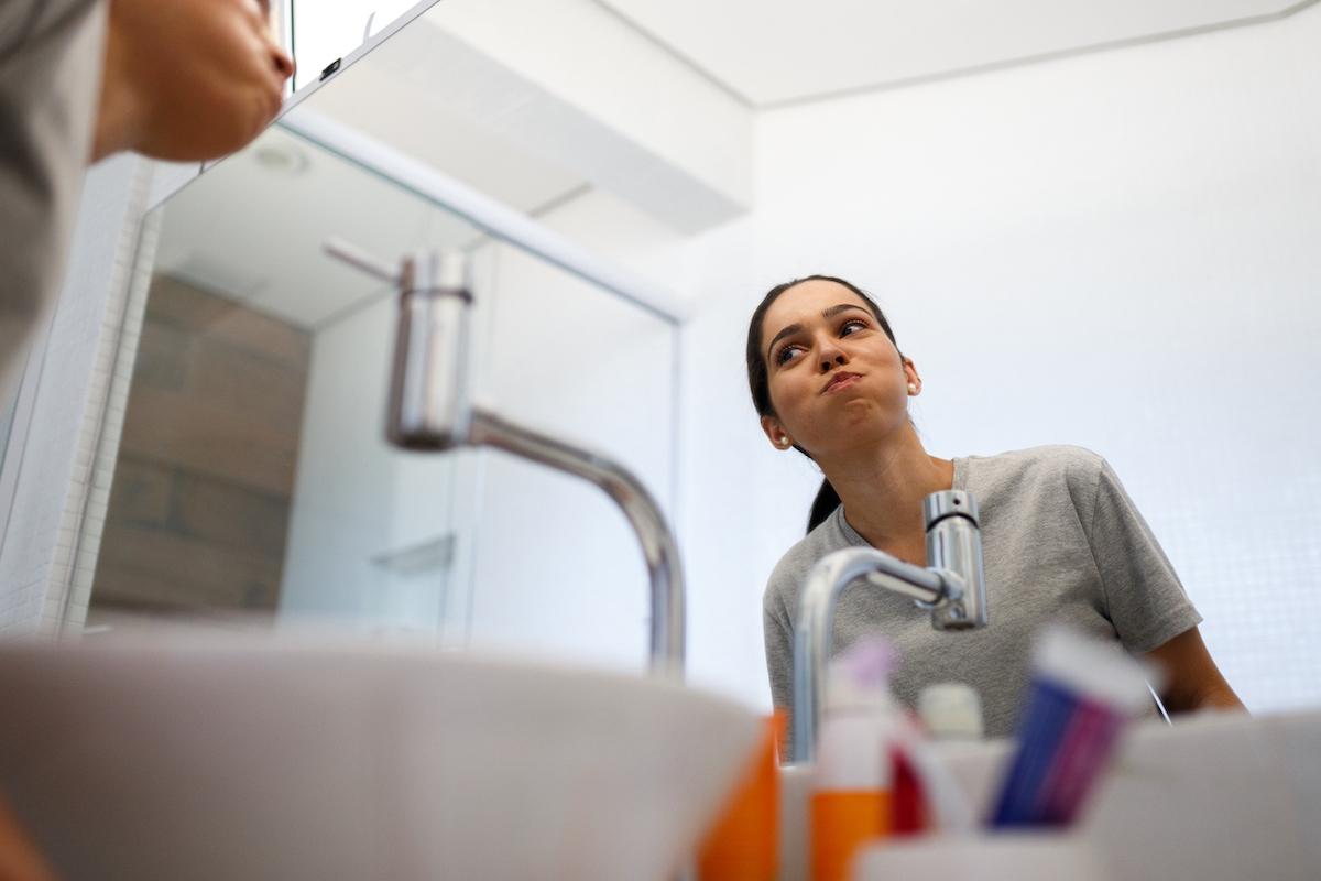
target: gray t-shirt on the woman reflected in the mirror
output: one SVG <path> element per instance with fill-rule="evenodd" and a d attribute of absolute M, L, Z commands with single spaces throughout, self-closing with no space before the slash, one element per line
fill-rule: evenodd
<path fill-rule="evenodd" d="M 1046 622 L 1062 622 L 1133 654 L 1162 646 L 1202 617 L 1119 478 L 1078 446 L 1038 446 L 954 460 L 954 489 L 978 499 L 988 623 L 938 631 L 908 597 L 859 579 L 839 596 L 834 651 L 884 633 L 900 651 L 894 693 L 909 707 L 937 682 L 968 683 L 982 696 L 988 737 L 1011 734 Z M 793 705 L 798 592 L 819 559 L 867 542 L 836 509 L 790 548 L 762 602 L 766 666 L 777 707 Z M 1151 713 L 1156 715 L 1152 703 Z"/>

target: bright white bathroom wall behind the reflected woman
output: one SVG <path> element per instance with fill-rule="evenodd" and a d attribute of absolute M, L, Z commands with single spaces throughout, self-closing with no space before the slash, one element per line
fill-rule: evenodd
<path fill-rule="evenodd" d="M 766 288 L 831 272 L 888 309 L 933 453 L 1103 453 L 1248 707 L 1321 704 L 1318 49 L 1310 8 L 764 111 L 744 219 L 683 238 L 598 192 L 546 218 L 697 306 L 679 498 L 695 680 L 769 703 L 761 593 L 818 477 L 761 436 L 741 347 Z"/>

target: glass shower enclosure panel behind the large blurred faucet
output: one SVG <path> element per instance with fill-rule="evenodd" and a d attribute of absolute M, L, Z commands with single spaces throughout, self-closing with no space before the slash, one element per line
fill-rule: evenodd
<path fill-rule="evenodd" d="M 246 610 L 641 667 L 622 514 L 503 453 L 386 444 L 394 291 L 322 246 L 468 251 L 478 394 L 621 460 L 663 505 L 670 322 L 279 128 L 159 210 L 89 623 Z"/>

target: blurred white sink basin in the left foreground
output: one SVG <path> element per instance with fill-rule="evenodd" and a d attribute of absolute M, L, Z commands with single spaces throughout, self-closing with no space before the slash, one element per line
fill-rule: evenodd
<path fill-rule="evenodd" d="M 66 881 L 660 881 L 758 736 L 639 678 L 197 634 L 0 649 L 0 708 Z"/>

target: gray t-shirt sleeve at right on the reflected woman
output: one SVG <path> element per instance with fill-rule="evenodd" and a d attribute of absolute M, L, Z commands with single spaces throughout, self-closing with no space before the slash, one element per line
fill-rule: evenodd
<path fill-rule="evenodd" d="M 1106 610 L 1129 651 L 1159 649 L 1202 621 L 1156 535 L 1106 461 L 1090 520 L 1089 542 Z"/>

